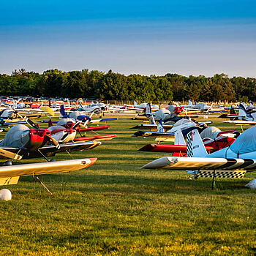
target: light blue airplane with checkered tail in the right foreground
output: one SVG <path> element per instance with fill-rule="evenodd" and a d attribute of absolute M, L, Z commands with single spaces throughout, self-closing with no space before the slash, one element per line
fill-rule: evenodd
<path fill-rule="evenodd" d="M 187 135 L 187 157 L 161 157 L 144 169 L 187 170 L 195 178 L 243 178 L 256 168 L 256 127 L 250 127 L 227 148 L 208 154 L 197 129 Z"/>

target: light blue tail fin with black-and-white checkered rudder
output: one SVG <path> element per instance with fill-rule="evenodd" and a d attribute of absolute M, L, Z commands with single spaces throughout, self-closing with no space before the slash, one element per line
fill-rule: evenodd
<path fill-rule="evenodd" d="M 206 157 L 208 155 L 203 140 L 197 129 L 187 135 L 187 157 Z"/>

